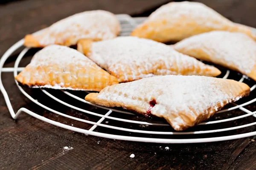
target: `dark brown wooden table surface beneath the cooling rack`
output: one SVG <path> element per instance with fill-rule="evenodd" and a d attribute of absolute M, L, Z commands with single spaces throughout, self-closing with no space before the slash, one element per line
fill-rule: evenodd
<path fill-rule="evenodd" d="M 170 1 L 170 0 L 169 0 Z M 168 0 L 20 0 L 0 4 L 0 56 L 25 34 L 38 31 L 72 14 L 104 9 L 115 14 L 147 16 Z M 237 23 L 256 27 L 255 0 L 197 0 Z M 13 67 L 19 51 L 5 67 Z M 25 57 L 21 66 L 29 62 Z M 82 126 L 35 105 L 18 90 L 13 73 L 2 74 L 15 111 L 21 107 L 65 124 Z M 64 107 L 29 90 L 41 102 L 70 115 Z M 250 105 L 256 110 L 255 104 Z M 90 108 L 95 109 L 95 108 Z M 84 115 L 81 115 L 82 118 Z M 90 119 L 96 119 L 90 117 Z M 83 128 L 86 125 L 83 124 Z M 255 127 L 252 127 L 256 130 Z M 0 169 L 256 169 L 256 136 L 203 144 L 151 144 L 86 136 L 42 122 L 27 114 L 11 118 L 0 93 Z M 64 147 L 73 147 L 65 150 Z M 163 148 L 169 147 L 169 150 Z M 134 154 L 133 159 L 130 158 Z"/>

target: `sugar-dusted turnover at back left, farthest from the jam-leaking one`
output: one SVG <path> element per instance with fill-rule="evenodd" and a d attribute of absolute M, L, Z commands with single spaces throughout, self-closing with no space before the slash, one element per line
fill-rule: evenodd
<path fill-rule="evenodd" d="M 120 24 L 114 14 L 108 11 L 85 11 L 72 15 L 45 30 L 25 37 L 27 47 L 45 47 L 51 44 L 76 45 L 81 38 L 93 41 L 107 40 L 116 37 Z"/>

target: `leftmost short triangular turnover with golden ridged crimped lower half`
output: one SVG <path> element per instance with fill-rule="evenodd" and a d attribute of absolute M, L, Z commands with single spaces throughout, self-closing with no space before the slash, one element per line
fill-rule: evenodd
<path fill-rule="evenodd" d="M 111 76 L 79 51 L 49 45 L 38 51 L 15 79 L 33 88 L 100 91 L 117 84 Z"/>

